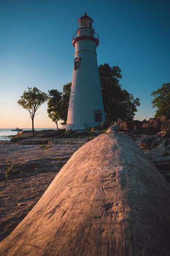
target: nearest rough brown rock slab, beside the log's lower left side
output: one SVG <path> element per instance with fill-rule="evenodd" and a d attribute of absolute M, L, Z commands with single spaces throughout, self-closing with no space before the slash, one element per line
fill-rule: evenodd
<path fill-rule="evenodd" d="M 0 182 L 0 241 L 26 217 L 56 175 L 42 173 Z"/>

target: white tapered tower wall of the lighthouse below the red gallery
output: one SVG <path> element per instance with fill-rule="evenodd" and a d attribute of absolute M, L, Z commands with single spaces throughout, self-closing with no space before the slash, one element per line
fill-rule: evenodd
<path fill-rule="evenodd" d="M 74 70 L 72 76 L 67 129 L 84 129 L 105 122 L 95 48 L 96 42 L 90 39 L 81 39 L 75 43 L 75 58 L 81 57 L 81 66 Z M 102 122 L 95 122 L 95 110 L 102 111 Z"/>

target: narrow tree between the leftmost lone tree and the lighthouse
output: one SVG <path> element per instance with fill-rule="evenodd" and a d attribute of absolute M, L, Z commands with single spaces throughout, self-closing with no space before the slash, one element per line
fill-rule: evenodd
<path fill-rule="evenodd" d="M 54 89 L 48 91 L 47 106 L 48 117 L 56 123 L 58 130 L 58 121 L 62 119 L 62 93 Z"/>

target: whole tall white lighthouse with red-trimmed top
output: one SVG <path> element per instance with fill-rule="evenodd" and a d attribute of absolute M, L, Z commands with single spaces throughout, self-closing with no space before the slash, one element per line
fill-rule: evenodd
<path fill-rule="evenodd" d="M 96 47 L 99 35 L 85 12 L 72 36 L 75 47 L 74 71 L 67 113 L 66 130 L 84 130 L 105 122 Z"/>

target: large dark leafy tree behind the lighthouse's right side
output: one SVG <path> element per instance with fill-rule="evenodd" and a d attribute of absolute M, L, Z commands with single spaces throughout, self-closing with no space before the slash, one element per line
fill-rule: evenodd
<path fill-rule="evenodd" d="M 102 98 L 106 115 L 106 121 L 116 121 L 118 118 L 124 121 L 133 120 L 139 98 L 134 98 L 127 90 L 122 90 L 119 79 L 122 78 L 118 66 L 110 67 L 107 63 L 99 66 Z"/>

